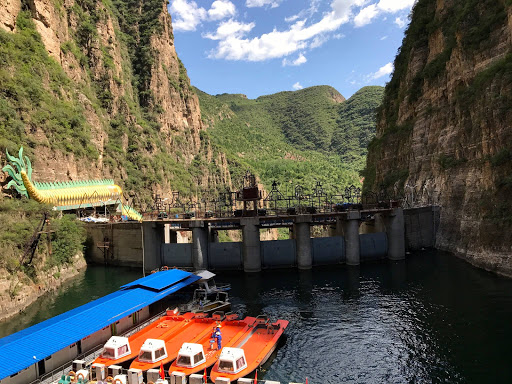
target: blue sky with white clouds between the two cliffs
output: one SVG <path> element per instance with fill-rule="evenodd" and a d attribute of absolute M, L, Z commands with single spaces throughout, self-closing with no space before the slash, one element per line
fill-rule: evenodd
<path fill-rule="evenodd" d="M 415 0 L 170 0 L 193 85 L 249 98 L 385 85 Z"/>

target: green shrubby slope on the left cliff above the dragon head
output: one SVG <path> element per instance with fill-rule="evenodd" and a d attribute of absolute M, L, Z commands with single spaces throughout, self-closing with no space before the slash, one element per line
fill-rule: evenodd
<path fill-rule="evenodd" d="M 38 130 L 47 142 L 30 134 Z M 17 33 L 0 30 L 0 147 L 48 145 L 92 159 L 98 152 L 90 132 L 69 79 L 48 56 L 30 14 L 20 12 Z"/>

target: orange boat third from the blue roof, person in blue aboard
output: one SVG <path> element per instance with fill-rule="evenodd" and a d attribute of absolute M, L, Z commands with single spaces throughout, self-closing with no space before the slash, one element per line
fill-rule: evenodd
<path fill-rule="evenodd" d="M 231 347 L 238 343 L 250 332 L 255 321 L 255 317 L 239 320 L 235 314 L 226 315 L 221 323 L 222 344 Z M 196 343 L 184 343 L 181 346 L 178 358 L 169 368 L 169 375 L 187 377 L 193 373 L 203 372 L 205 368 L 215 364 L 219 356 L 220 351 L 216 349 L 211 333 L 207 334 Z"/>

